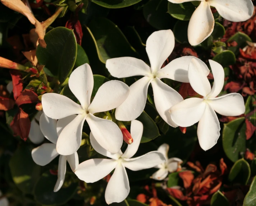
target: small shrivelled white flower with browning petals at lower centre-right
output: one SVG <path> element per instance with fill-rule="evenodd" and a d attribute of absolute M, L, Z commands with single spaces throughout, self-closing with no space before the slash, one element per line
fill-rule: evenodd
<path fill-rule="evenodd" d="M 162 164 L 157 165 L 155 168 L 159 168 L 157 172 L 155 172 L 151 178 L 156 180 L 163 180 L 167 177 L 168 172 L 176 172 L 178 168 L 181 168 L 182 160 L 179 158 L 170 158 L 168 159 L 168 151 L 169 151 L 169 145 L 168 144 L 162 144 L 157 149 L 160 153 L 164 155 L 165 162 Z"/>

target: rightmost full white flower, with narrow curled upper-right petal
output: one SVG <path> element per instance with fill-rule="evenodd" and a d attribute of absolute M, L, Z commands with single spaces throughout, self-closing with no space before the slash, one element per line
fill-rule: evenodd
<path fill-rule="evenodd" d="M 209 60 L 213 72 L 214 84 L 202 71 L 204 68 L 193 58 L 188 66 L 188 79 L 192 88 L 204 98 L 189 98 L 174 105 L 170 109 L 172 120 L 181 127 L 197 126 L 197 136 L 202 149 L 212 148 L 220 136 L 220 124 L 214 111 L 224 116 L 238 116 L 245 112 L 245 104 L 241 94 L 231 93 L 216 97 L 224 85 L 223 67 Z"/>

